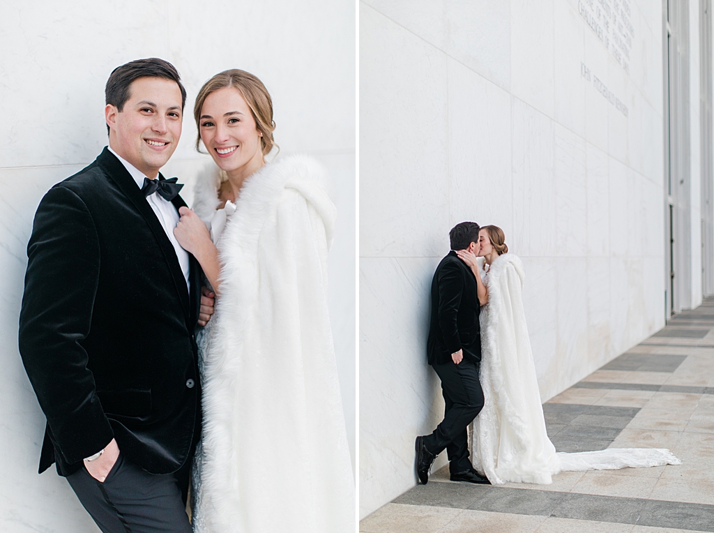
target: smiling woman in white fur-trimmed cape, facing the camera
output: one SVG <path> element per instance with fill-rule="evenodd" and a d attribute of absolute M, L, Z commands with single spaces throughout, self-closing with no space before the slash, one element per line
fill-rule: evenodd
<path fill-rule="evenodd" d="M 323 171 L 303 156 L 266 164 L 273 109 L 252 74 L 213 76 L 194 115 L 218 168 L 199 176 L 194 211 L 181 208 L 174 230 L 216 293 L 198 339 L 203 432 L 193 529 L 353 531 L 326 294 L 335 208 Z"/>

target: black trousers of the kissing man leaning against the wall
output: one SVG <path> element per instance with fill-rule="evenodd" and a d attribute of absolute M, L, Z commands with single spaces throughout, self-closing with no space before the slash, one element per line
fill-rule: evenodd
<path fill-rule="evenodd" d="M 466 427 L 483 409 L 483 390 L 478 380 L 478 364 L 464 359 L 459 364 L 434 364 L 441 379 L 441 394 L 446 403 L 444 419 L 431 435 L 424 437 L 426 449 L 440 454 L 446 449 L 452 474 L 473 468 L 468 459 Z"/>

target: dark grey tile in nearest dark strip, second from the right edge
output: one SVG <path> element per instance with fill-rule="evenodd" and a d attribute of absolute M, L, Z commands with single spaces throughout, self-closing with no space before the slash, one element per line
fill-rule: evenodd
<path fill-rule="evenodd" d="M 553 517 L 636 524 L 647 500 L 594 496 L 593 494 L 565 494 L 553 510 Z"/>

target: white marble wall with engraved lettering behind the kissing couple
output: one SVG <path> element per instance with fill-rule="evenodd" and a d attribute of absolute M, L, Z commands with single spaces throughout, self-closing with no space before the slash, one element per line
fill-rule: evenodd
<path fill-rule="evenodd" d="M 361 0 L 361 517 L 441 420 L 428 287 L 454 224 L 523 258 L 544 401 L 663 327 L 662 4 L 628 4 L 629 74 L 580 13 L 598 1 Z"/>

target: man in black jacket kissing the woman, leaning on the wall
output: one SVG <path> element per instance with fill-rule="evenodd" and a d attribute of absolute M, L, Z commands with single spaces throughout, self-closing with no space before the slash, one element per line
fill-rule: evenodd
<path fill-rule="evenodd" d="M 431 282 L 431 324 L 426 343 L 428 362 L 441 379 L 446 402 L 444 419 L 432 434 L 416 438 L 416 470 L 426 484 L 436 456 L 446 449 L 452 481 L 488 483 L 468 459 L 466 427 L 483 408 L 478 380 L 481 329 L 476 277 L 456 255 L 478 253 L 478 224 L 461 222 L 451 229 L 451 251 L 436 267 Z M 485 297 L 485 288 L 481 286 Z"/>

